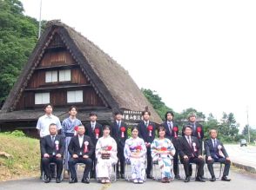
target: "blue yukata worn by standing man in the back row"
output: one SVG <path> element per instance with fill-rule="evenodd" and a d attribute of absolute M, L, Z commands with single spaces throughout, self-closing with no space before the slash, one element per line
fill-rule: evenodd
<path fill-rule="evenodd" d="M 71 154 L 68 151 L 68 147 L 71 141 L 72 136 L 75 135 L 75 127 L 78 125 L 82 125 L 82 122 L 78 120 L 77 118 L 75 120 L 71 120 L 70 117 L 64 119 L 62 121 L 62 134 L 65 136 L 65 152 L 64 152 L 64 158 L 65 158 L 65 169 L 69 170 L 68 161 L 71 158 Z"/>

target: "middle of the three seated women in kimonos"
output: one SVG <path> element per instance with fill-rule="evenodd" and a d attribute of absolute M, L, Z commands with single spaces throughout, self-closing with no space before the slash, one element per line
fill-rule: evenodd
<path fill-rule="evenodd" d="M 125 161 L 131 163 L 133 183 L 143 183 L 145 179 L 145 141 L 138 137 L 138 128 L 131 128 L 131 137 L 125 141 Z"/>

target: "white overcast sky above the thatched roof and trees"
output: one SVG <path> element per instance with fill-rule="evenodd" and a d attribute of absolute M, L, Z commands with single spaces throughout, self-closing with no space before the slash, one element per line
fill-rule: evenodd
<path fill-rule="evenodd" d="M 39 18 L 40 0 L 22 0 Z M 156 90 L 176 112 L 232 112 L 256 127 L 256 1 L 43 0 L 61 19 Z"/>

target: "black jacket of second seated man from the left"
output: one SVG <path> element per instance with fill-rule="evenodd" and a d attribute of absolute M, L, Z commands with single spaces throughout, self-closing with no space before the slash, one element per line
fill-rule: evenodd
<path fill-rule="evenodd" d="M 87 146 L 87 148 L 88 148 L 87 153 L 84 153 L 84 142 L 85 141 L 88 141 L 88 143 L 89 143 Z M 95 150 L 95 147 L 91 141 L 90 136 L 84 135 L 82 147 L 80 147 L 80 145 L 79 145 L 78 135 L 73 136 L 71 138 L 71 142 L 69 145 L 69 153 L 71 154 L 71 156 L 73 154 L 77 154 L 78 156 L 88 155 L 89 157 L 91 157 L 91 155 L 94 154 L 94 150 Z M 80 153 L 82 153 L 82 155 Z"/>

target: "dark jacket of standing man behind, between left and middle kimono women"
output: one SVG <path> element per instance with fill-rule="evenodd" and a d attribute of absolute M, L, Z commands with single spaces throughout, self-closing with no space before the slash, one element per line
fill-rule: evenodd
<path fill-rule="evenodd" d="M 121 128 L 125 128 L 124 137 L 122 137 Z M 118 128 L 118 123 L 116 121 L 111 123 L 111 137 L 117 142 L 118 147 L 124 148 L 125 147 L 125 140 L 127 139 L 127 124 L 124 121 L 121 121 L 121 126 Z"/>

